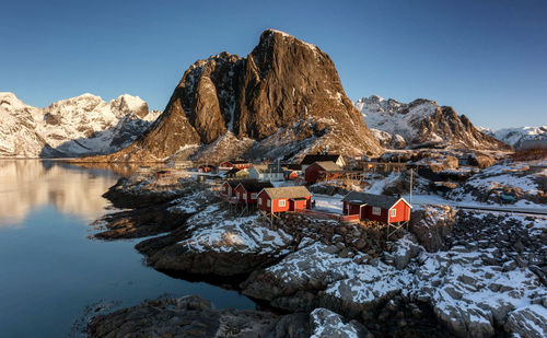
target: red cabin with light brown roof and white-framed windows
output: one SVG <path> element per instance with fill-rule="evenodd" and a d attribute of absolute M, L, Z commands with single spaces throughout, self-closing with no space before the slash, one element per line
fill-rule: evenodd
<path fill-rule="evenodd" d="M 258 194 L 258 208 L 268 212 L 311 209 L 312 194 L 304 186 L 264 188 Z"/>

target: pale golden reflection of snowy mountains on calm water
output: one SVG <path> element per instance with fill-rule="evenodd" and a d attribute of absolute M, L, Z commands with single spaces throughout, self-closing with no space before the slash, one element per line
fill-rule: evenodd
<path fill-rule="evenodd" d="M 91 175 L 90 175 L 91 174 Z M 14 226 L 48 203 L 63 213 L 95 219 L 107 201 L 101 197 L 118 175 L 108 170 L 39 160 L 0 160 L 0 228 Z"/>

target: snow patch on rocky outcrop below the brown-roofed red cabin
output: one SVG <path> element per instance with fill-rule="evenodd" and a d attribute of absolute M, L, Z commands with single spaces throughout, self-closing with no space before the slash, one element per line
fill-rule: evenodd
<path fill-rule="evenodd" d="M 191 236 L 178 244 L 195 253 L 271 254 L 293 241 L 282 230 L 271 230 L 257 219 L 257 214 L 231 217 L 220 203 L 216 203 L 188 219 Z"/>

